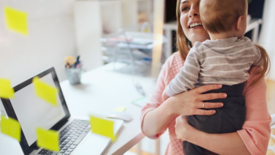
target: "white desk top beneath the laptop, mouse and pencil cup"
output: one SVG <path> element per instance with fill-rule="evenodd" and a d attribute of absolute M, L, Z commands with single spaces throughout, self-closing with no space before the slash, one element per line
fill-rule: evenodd
<path fill-rule="evenodd" d="M 116 64 L 116 67 L 124 64 Z M 133 85 L 139 81 L 144 92 L 151 94 L 155 79 L 111 71 L 109 63 L 82 74 L 81 84 L 70 85 L 68 80 L 60 83 L 62 92 L 72 116 L 89 116 L 89 114 L 108 115 L 117 106 L 126 106 L 133 120 L 123 123 L 117 141 L 111 144 L 105 154 L 123 154 L 143 137 L 140 128 L 141 108 L 131 101 L 141 97 Z M 0 154 L 23 154 L 19 143 L 0 134 Z M 11 149 L 12 148 L 12 149 Z"/>

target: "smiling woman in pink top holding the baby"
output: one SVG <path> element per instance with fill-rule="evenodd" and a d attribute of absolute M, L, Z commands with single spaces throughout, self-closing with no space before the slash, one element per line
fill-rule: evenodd
<path fill-rule="evenodd" d="M 209 103 L 204 100 L 225 98 L 225 93 L 202 94 L 219 89 L 221 85 L 205 85 L 162 100 L 165 86 L 175 77 L 184 64 L 184 59 L 196 42 L 209 39 L 201 26 L 199 0 L 178 0 L 177 2 L 177 46 L 179 52 L 170 56 L 162 66 L 157 80 L 156 91 L 150 102 L 142 109 L 142 131 L 150 138 L 158 138 L 167 128 L 170 143 L 166 154 L 183 154 L 182 141 L 188 141 L 217 154 L 266 154 L 270 136 L 271 118 L 266 104 L 266 83 L 259 78 L 259 67 L 250 69 L 250 78 L 245 84 L 243 95 L 246 99 L 246 120 L 241 130 L 232 133 L 211 134 L 199 131 L 188 124 L 186 115 L 213 115 L 222 103 Z M 197 23 L 193 28 L 190 24 Z M 252 85 L 251 85 L 252 84 Z M 253 85 L 254 84 L 254 85 Z"/>

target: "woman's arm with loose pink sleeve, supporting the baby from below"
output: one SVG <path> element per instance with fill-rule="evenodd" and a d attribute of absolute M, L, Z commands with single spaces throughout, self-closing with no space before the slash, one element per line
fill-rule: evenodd
<path fill-rule="evenodd" d="M 176 119 L 177 138 L 218 154 L 266 154 L 271 118 L 266 104 L 265 79 L 249 86 L 257 78 L 253 75 L 256 68 L 254 66 L 250 69 L 250 78 L 246 83 L 246 118 L 241 130 L 233 133 L 204 133 L 189 125 L 185 117 L 180 116 Z"/>

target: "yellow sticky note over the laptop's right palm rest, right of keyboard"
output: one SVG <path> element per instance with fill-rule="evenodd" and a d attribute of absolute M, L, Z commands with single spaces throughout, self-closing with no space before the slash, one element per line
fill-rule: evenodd
<path fill-rule="evenodd" d="M 107 119 L 102 119 L 94 116 L 90 116 L 91 129 L 93 133 L 103 135 L 111 138 L 114 142 L 116 135 L 114 135 L 114 122 Z"/>

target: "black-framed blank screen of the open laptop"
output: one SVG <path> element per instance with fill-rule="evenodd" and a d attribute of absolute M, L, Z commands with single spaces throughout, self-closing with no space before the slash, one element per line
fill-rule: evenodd
<path fill-rule="evenodd" d="M 34 77 L 39 77 L 42 82 L 59 90 L 57 106 L 36 96 L 32 83 Z M 18 120 L 21 125 L 20 146 L 24 154 L 30 154 L 38 149 L 36 127 L 59 130 L 70 117 L 55 69 L 52 67 L 34 77 L 13 87 L 15 98 L 1 98 L 7 115 Z"/>

